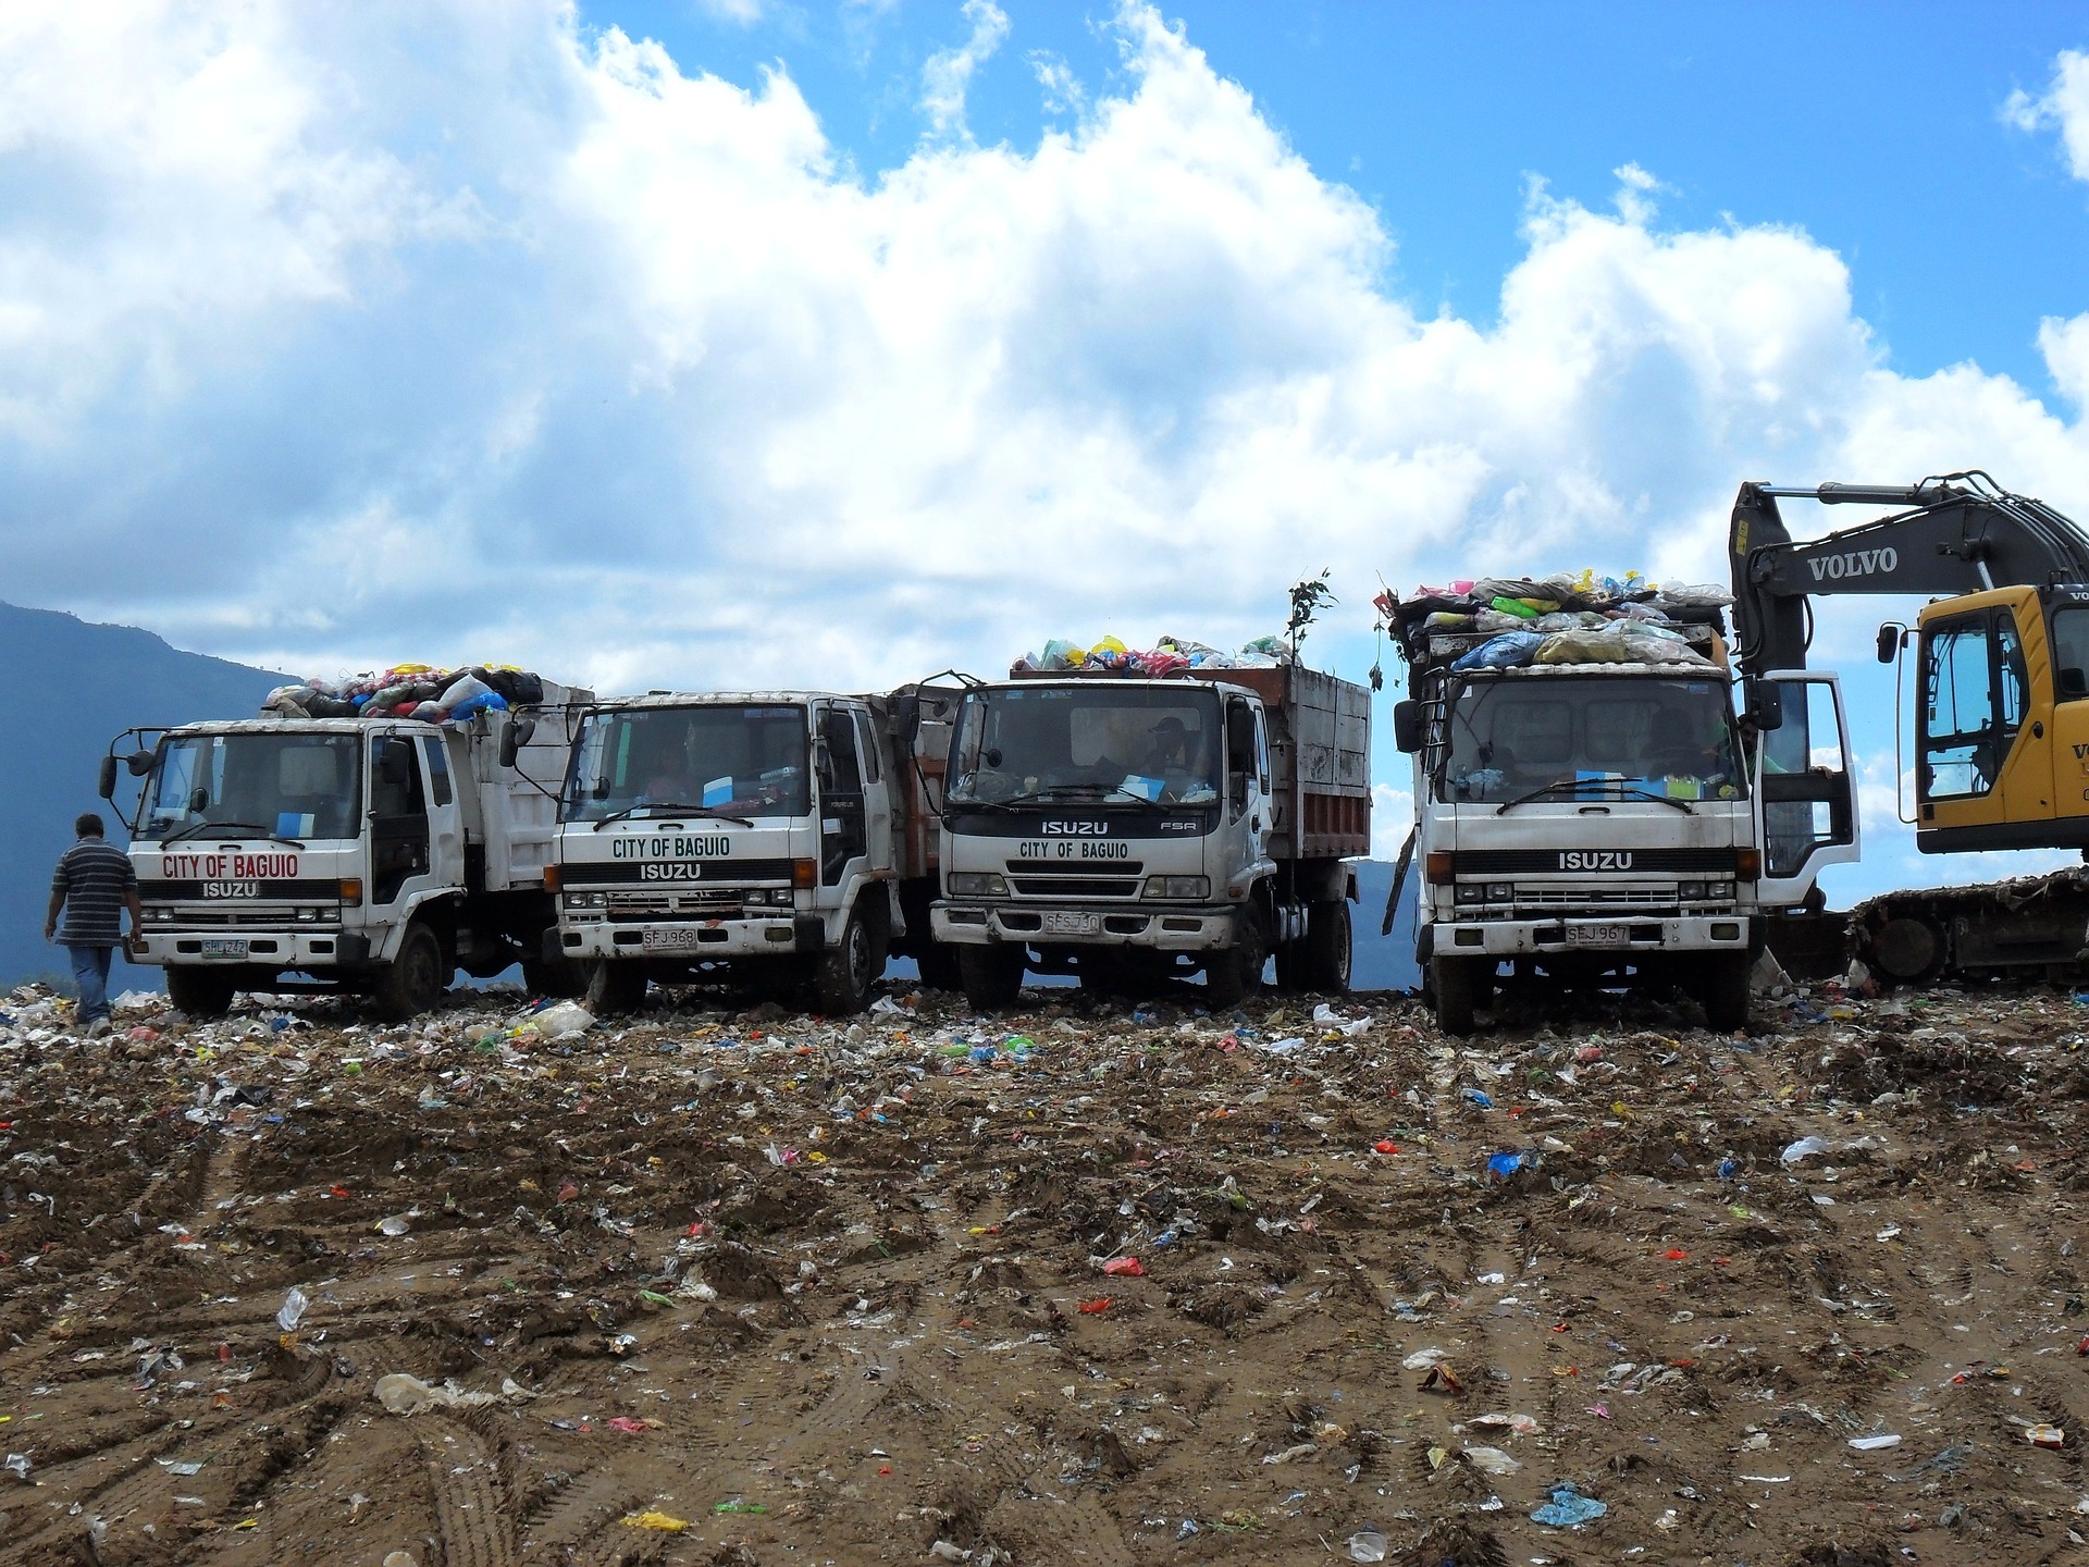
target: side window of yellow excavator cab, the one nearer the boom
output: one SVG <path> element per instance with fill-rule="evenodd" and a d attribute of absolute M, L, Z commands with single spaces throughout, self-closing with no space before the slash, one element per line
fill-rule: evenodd
<path fill-rule="evenodd" d="M 2008 610 L 1937 621 L 1922 656 L 1920 798 L 1987 794 L 2024 723 L 2024 648 Z"/>

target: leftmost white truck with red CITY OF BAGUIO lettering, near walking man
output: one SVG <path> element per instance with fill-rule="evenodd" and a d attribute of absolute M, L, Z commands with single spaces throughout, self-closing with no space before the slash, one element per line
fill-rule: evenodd
<path fill-rule="evenodd" d="M 426 1011 L 462 967 L 522 963 L 539 990 L 556 909 L 564 729 L 543 706 L 460 723 L 269 715 L 127 729 L 102 758 L 144 779 L 130 857 L 144 909 L 132 961 L 167 969 L 173 1005 L 217 1018 L 240 990 L 366 992 L 389 1018 Z"/>

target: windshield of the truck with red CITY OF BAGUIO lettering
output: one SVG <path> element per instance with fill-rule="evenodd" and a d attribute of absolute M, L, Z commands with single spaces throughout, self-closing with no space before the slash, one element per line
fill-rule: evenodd
<path fill-rule="evenodd" d="M 355 838 L 361 738 L 353 733 L 167 735 L 144 786 L 138 838 Z"/>

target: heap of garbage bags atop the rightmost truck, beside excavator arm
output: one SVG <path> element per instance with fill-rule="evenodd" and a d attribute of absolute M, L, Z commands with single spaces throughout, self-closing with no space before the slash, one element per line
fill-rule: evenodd
<path fill-rule="evenodd" d="M 1723 654 L 1723 587 L 1648 583 L 1638 572 L 1485 577 L 1381 593 L 1377 610 L 1414 669 L 1452 671 L 1529 664 L 1688 664 Z"/>

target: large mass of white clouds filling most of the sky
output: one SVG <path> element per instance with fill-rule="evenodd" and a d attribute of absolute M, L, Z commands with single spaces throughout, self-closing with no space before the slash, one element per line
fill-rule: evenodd
<path fill-rule="evenodd" d="M 1836 253 L 1665 228 L 1638 165 L 1531 192 L 1492 326 L 1416 313 L 1381 217 L 1141 4 L 1032 150 L 957 134 L 1007 27 L 967 6 L 944 138 L 877 180 L 781 67 L 556 0 L 198 15 L 0 21 L 0 581 L 209 652 L 867 689 L 1239 644 L 1320 566 L 1331 648 L 1379 572 L 1717 581 L 1742 476 L 2089 514 L 2081 322 L 2041 332 L 2068 414 L 1901 376 Z"/>

